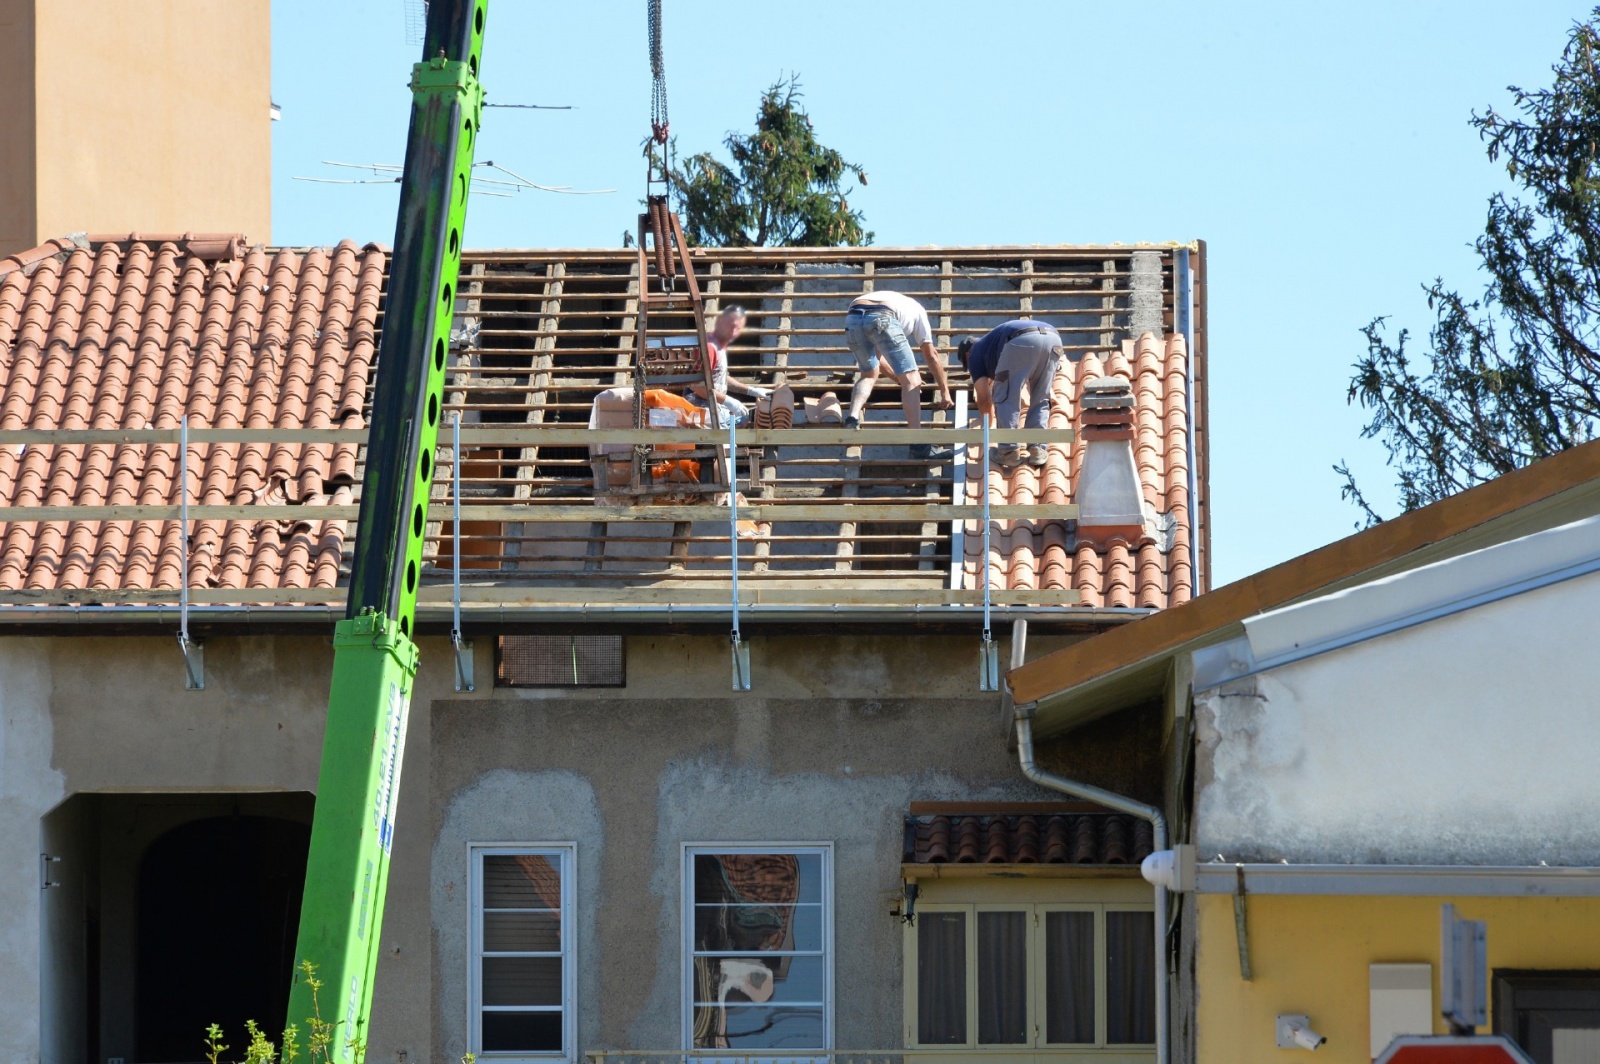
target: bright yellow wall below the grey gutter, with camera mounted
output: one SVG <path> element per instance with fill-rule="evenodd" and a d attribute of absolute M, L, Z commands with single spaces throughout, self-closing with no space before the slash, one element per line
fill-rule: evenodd
<path fill-rule="evenodd" d="M 1494 968 L 1600 968 L 1597 898 L 1250 898 L 1253 979 L 1238 978 L 1234 899 L 1202 894 L 1195 942 L 1198 1064 L 1299 1059 L 1278 1050 L 1278 1013 L 1306 1013 L 1328 1037 L 1320 1064 L 1368 1064 L 1373 963 L 1434 965 L 1438 1006 L 1438 907 L 1488 923 Z M 1485 1029 L 1486 1030 L 1486 1029 Z M 1435 1018 L 1435 1034 L 1445 1027 Z"/>

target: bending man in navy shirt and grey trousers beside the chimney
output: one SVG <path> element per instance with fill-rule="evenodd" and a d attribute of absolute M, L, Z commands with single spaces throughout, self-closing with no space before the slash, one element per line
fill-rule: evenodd
<path fill-rule="evenodd" d="M 962 365 L 973 378 L 973 398 L 986 418 L 998 429 L 1048 429 L 1050 392 L 1056 373 L 1066 360 L 1056 326 L 1029 318 L 1013 318 L 984 333 L 966 338 L 957 347 Z M 1022 386 L 1027 386 L 1027 414 L 1022 414 Z M 994 461 L 1002 469 L 1016 469 L 1024 461 L 1042 467 L 1050 448 L 1038 445 L 1022 450 L 1016 443 L 995 446 Z"/>

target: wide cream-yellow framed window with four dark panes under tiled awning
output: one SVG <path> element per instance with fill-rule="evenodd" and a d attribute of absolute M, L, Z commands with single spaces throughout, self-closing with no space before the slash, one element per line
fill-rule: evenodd
<path fill-rule="evenodd" d="M 1155 1042 L 1155 923 L 1109 904 L 922 904 L 907 934 L 917 1046 Z"/>

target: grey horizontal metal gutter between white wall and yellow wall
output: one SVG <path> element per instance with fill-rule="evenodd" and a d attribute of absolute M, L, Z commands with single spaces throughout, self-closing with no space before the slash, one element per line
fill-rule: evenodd
<path fill-rule="evenodd" d="M 1234 864 L 1195 867 L 1195 893 L 1600 898 L 1600 867 L 1470 864 Z"/>

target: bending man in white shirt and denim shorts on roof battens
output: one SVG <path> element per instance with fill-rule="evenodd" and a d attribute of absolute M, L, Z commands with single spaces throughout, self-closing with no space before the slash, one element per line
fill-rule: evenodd
<path fill-rule="evenodd" d="M 845 339 L 856 355 L 856 386 L 850 394 L 850 411 L 845 414 L 846 429 L 861 427 L 861 413 L 872 395 L 872 386 L 878 382 L 878 366 L 888 365 L 894 381 L 901 386 L 901 410 L 906 411 L 909 429 L 922 427 L 922 374 L 917 373 L 917 355 L 912 346 L 922 350 L 922 358 L 933 374 L 933 382 L 939 389 L 934 403 L 938 410 L 950 410 L 955 402 L 950 398 L 950 381 L 944 373 L 944 360 L 933 342 L 933 326 L 928 323 L 928 312 L 922 304 L 898 291 L 869 291 L 850 304 L 845 314 Z M 915 443 L 910 448 L 912 458 L 931 461 L 950 458 L 955 448 Z"/>

